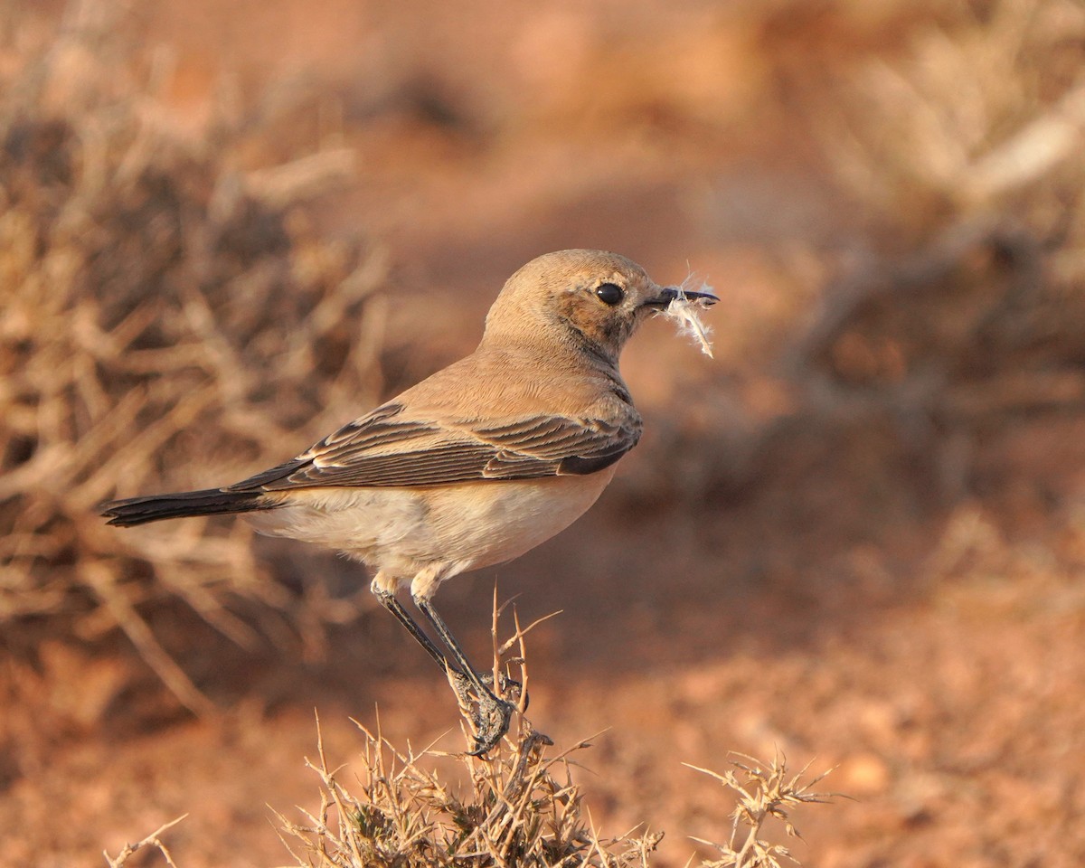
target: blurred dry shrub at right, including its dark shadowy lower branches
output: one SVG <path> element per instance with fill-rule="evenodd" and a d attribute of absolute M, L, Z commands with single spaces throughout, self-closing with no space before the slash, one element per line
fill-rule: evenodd
<path fill-rule="evenodd" d="M 764 482 L 810 432 L 869 446 L 880 429 L 880 460 L 952 508 L 976 494 L 983 432 L 1085 410 L 1083 52 L 1080 3 L 991 0 L 830 66 L 828 86 L 792 82 L 858 228 L 780 252 L 818 297 L 775 360 L 786 409 L 741 421 L 710 498 Z"/>

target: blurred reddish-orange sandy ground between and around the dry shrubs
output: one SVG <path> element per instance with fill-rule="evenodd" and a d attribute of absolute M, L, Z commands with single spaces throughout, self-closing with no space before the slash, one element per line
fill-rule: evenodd
<path fill-rule="evenodd" d="M 826 29 L 697 3 L 662 18 L 647 2 L 556 4 L 532 27 L 519 4 L 224 9 L 146 13 L 178 52 L 174 99 L 197 124 L 224 67 L 334 82 L 360 156 L 328 225 L 387 245 L 391 330 L 429 346 L 418 374 L 469 349 L 501 280 L 546 250 L 620 250 L 661 281 L 688 260 L 724 297 L 715 361 L 664 323 L 627 352 L 648 433 L 600 505 L 441 598 L 482 659 L 495 578 L 528 620 L 564 610 L 529 637 L 531 717 L 563 746 L 601 733 L 582 780 L 604 833 L 666 830 L 658 864 L 682 865 L 687 835 L 726 840 L 731 803 L 681 763 L 780 750 L 796 769 L 835 767 L 825 786 L 854 797 L 799 814 L 805 864 L 1085 863 L 1085 421 L 984 432 L 979 482 L 953 502 L 877 424 L 793 432 L 745 475 L 713 436 L 789 406 L 771 361 L 816 288 L 773 252 L 850 229 L 795 145 L 802 105 L 774 90 L 782 61 L 761 40 L 775 28 L 814 69 L 904 43 L 919 13 L 852 10 Z M 434 119 L 444 103 L 451 119 Z M 685 441 L 668 419 L 682 404 L 701 432 Z M 350 569 L 297 548 L 292 567 Z M 397 743 L 460 743 L 447 685 L 382 612 L 305 662 L 182 613 L 155 626 L 189 649 L 221 719 L 186 716 L 123 647 L 84 658 L 47 642 L 38 671 L 13 668 L 40 700 L 5 712 L 25 746 L 0 792 L 0 865 L 102 865 L 103 847 L 183 813 L 166 839 L 181 868 L 283 864 L 268 806 L 317 805 L 314 709 L 332 763 L 359 750 L 348 717 L 373 725 L 375 706 Z"/>

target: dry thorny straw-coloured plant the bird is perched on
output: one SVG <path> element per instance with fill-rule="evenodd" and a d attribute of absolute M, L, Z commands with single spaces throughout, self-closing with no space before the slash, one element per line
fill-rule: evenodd
<path fill-rule="evenodd" d="M 554 756 L 553 742 L 524 717 L 527 667 L 524 634 L 496 641 L 498 609 L 494 610 L 495 674 L 514 646 L 519 656 L 506 661 L 519 668 L 523 686 L 519 725 L 487 758 L 433 751 L 396 749 L 378 729 L 374 735 L 355 722 L 365 739 L 358 788 L 342 781 L 329 765 L 318 720 L 317 761 L 321 800 L 316 813 L 304 812 L 306 824 L 282 815 L 280 837 L 297 865 L 310 868 L 434 868 L 456 866 L 521 866 L 522 868 L 647 868 L 662 833 L 631 833 L 601 839 L 591 827 L 573 781 L 573 754 L 584 741 Z M 513 615 L 515 618 L 515 615 Z M 536 622 L 538 623 L 538 622 Z M 534 626 L 531 625 L 531 626 Z M 511 674 L 511 673 L 510 673 Z M 439 760 L 458 762 L 467 786 L 446 782 L 434 768 Z"/>

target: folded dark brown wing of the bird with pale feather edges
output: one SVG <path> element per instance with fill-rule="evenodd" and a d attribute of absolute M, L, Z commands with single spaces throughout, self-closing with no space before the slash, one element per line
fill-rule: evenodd
<path fill-rule="evenodd" d="M 308 487 L 417 488 L 482 480 L 583 475 L 610 467 L 640 437 L 626 422 L 564 416 L 419 420 L 387 404 L 311 449 L 228 490 Z"/>

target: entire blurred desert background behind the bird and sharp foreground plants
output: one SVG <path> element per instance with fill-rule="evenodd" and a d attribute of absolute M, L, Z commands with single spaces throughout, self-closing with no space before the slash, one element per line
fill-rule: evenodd
<path fill-rule="evenodd" d="M 855 799 L 809 864 L 1081 865 L 1083 61 L 1076 0 L 8 0 L 0 863 L 190 812 L 183 868 L 280 864 L 314 707 L 460 748 L 360 567 L 94 507 L 296 454 L 576 246 L 706 280 L 716 357 L 648 324 L 599 505 L 442 602 L 481 659 L 495 582 L 564 610 L 531 717 L 603 831 L 682 865 L 731 803 L 681 763 L 778 749 Z"/>

